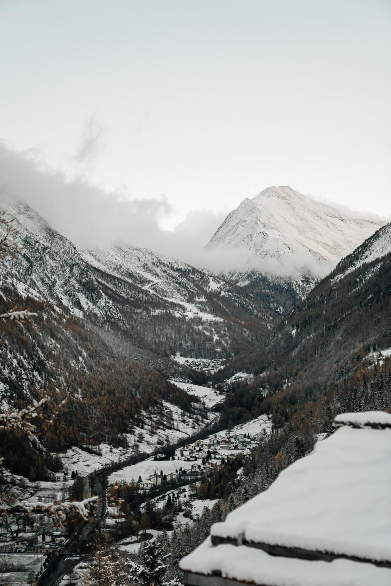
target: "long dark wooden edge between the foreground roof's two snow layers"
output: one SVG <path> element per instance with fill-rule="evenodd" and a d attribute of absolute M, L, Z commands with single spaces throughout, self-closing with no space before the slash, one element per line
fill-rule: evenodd
<path fill-rule="evenodd" d="M 391 569 L 391 560 L 378 561 L 372 560 L 370 558 L 348 556 L 347 554 L 335 553 L 332 551 L 306 550 L 301 547 L 286 547 L 280 545 L 272 545 L 269 543 L 255 543 L 254 541 L 247 541 L 246 539 L 243 539 L 242 536 L 240 537 L 240 539 L 234 539 L 233 537 L 220 537 L 217 535 L 212 535 L 211 541 L 214 546 L 229 543 L 234 546 L 244 545 L 247 547 L 255 547 L 257 549 L 265 551 L 265 553 L 268 553 L 269 556 L 293 557 L 298 560 L 308 561 L 333 561 L 343 559 L 350 561 L 358 561 L 363 564 L 372 564 L 376 565 L 379 568 Z"/>

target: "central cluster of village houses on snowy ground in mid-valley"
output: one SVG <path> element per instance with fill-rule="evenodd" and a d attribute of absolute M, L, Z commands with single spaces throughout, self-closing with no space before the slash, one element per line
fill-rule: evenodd
<path fill-rule="evenodd" d="M 193 444 L 184 446 L 183 449 L 180 449 L 177 460 L 193 462 L 188 469 L 192 473 L 202 473 L 205 469 L 217 469 L 223 460 L 227 462 L 240 453 L 249 456 L 251 450 L 259 445 L 269 432 L 270 430 L 264 427 L 252 438 L 250 438 L 250 434 L 230 434 L 228 431 L 225 432 L 225 436 L 215 434 L 205 440 L 197 440 Z M 138 486 L 140 490 L 147 490 L 165 482 L 177 482 L 181 473 L 186 474 L 187 470 L 171 471 L 166 474 L 162 471 L 160 473 L 154 472 L 149 475 L 149 479 L 144 481 L 139 479 Z"/>

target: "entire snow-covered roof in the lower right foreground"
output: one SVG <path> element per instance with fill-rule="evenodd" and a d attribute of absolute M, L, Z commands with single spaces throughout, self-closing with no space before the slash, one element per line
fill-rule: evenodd
<path fill-rule="evenodd" d="M 184 557 L 187 586 L 391 584 L 391 414 L 348 413 Z"/>

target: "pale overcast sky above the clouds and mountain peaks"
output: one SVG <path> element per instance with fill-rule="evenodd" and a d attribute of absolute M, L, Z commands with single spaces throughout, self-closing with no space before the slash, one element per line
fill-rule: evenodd
<path fill-rule="evenodd" d="M 390 16 L 388 0 L 0 0 L 0 140 L 164 195 L 165 227 L 269 185 L 388 216 Z"/>

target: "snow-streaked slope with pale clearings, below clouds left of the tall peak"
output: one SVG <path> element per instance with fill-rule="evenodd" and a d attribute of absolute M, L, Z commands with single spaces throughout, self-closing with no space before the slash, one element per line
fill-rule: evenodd
<path fill-rule="evenodd" d="M 271 325 L 272 312 L 263 302 L 172 258 L 127 244 L 81 254 L 106 295 L 117 300 L 125 321 L 131 304 L 144 320 L 165 321 L 161 326 L 166 334 L 177 331 L 178 320 L 186 321 L 184 339 L 171 353 L 194 346 L 221 352 L 234 338 L 247 346 L 249 329 L 265 333 Z M 138 327 L 132 321 L 132 330 Z"/>

